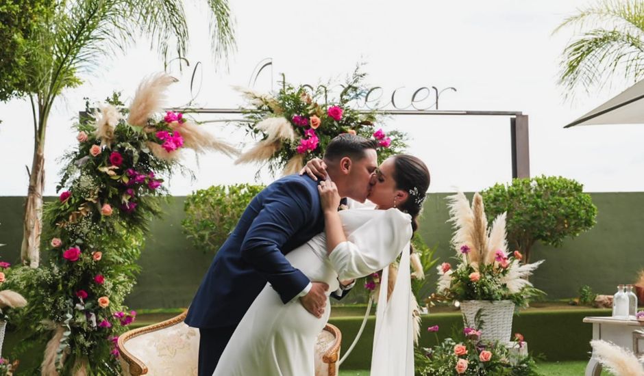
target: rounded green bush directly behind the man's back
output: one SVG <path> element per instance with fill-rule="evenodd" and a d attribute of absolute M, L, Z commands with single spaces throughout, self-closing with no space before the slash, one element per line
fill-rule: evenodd
<path fill-rule="evenodd" d="M 217 252 L 234 230 L 251 200 L 264 189 L 262 185 L 213 185 L 190 194 L 184 203 L 184 233 L 203 252 Z"/>

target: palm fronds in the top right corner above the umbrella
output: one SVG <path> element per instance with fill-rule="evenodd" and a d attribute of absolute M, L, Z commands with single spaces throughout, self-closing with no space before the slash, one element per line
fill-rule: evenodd
<path fill-rule="evenodd" d="M 580 32 L 562 53 L 559 83 L 567 96 L 602 89 L 616 75 L 627 81 L 644 76 L 644 1 L 599 1 L 554 32 L 567 27 Z"/>

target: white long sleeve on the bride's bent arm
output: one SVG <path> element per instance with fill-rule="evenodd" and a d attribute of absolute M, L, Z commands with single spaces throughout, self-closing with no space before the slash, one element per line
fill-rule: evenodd
<path fill-rule="evenodd" d="M 410 215 L 388 209 L 351 232 L 329 255 L 338 278 L 364 277 L 392 263 L 412 237 L 410 223 Z"/>

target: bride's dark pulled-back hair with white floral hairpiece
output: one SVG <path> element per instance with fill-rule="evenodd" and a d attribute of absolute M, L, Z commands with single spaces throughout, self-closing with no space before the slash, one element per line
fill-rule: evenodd
<path fill-rule="evenodd" d="M 423 209 L 425 195 L 430 187 L 430 170 L 417 157 L 408 154 L 394 155 L 393 179 L 396 188 L 406 191 L 409 196 L 398 209 L 412 216 L 412 230 L 418 229 L 418 216 Z"/>

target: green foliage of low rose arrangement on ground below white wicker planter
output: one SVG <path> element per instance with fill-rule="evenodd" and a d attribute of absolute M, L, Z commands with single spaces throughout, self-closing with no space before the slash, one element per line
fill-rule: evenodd
<path fill-rule="evenodd" d="M 437 328 L 438 329 L 438 328 Z M 480 331 L 475 327 L 467 327 L 462 332 L 456 332 L 452 338 L 438 341 L 434 347 L 421 347 L 416 350 L 414 366 L 416 375 L 421 376 L 538 376 L 536 362 L 530 355 L 519 356 L 512 353 L 503 343 L 480 340 Z M 522 339 L 512 342 L 522 346 Z M 456 346 L 465 346 L 467 353 L 456 355 Z M 489 351 L 491 358 L 482 360 L 481 353 Z M 456 371 L 457 362 L 467 362 L 467 369 Z"/>

